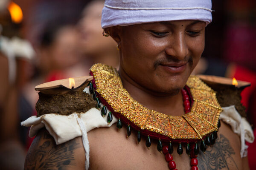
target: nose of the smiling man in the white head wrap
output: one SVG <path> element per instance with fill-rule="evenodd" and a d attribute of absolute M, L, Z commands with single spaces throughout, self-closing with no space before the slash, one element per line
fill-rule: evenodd
<path fill-rule="evenodd" d="M 175 57 L 178 60 L 185 59 L 189 54 L 189 48 L 186 44 L 185 34 L 183 32 L 172 34 L 165 51 L 166 54 Z"/>

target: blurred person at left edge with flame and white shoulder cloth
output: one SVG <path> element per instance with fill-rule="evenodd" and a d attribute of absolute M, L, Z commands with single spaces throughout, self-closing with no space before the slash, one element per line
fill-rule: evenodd
<path fill-rule="evenodd" d="M 8 9 L 7 9 L 8 8 Z M 0 169 L 20 170 L 26 150 L 20 140 L 18 103 L 29 79 L 34 50 L 20 33 L 22 11 L 9 0 L 0 2 Z"/>

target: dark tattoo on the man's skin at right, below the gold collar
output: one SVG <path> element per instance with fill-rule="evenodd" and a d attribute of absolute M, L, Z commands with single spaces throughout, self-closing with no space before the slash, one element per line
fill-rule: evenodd
<path fill-rule="evenodd" d="M 235 151 L 230 146 L 229 140 L 220 134 L 213 147 L 208 147 L 205 154 L 202 153 L 198 156 L 198 169 L 200 170 L 221 170 L 228 169 L 234 166 L 238 170 L 236 162 L 231 155 L 234 155 Z"/>

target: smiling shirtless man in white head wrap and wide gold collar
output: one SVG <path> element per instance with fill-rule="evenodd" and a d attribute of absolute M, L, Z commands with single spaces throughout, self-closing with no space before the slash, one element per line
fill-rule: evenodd
<path fill-rule="evenodd" d="M 49 131 L 37 133 L 25 169 L 248 169 L 244 141 L 229 125 L 219 126 L 215 92 L 189 78 L 204 50 L 210 8 L 210 1 L 106 1 L 102 27 L 118 44 L 119 71 L 93 65 L 84 89 L 101 111 L 23 122 Z M 240 118 L 222 120 L 241 127 Z M 79 132 L 69 132 L 78 125 Z"/>

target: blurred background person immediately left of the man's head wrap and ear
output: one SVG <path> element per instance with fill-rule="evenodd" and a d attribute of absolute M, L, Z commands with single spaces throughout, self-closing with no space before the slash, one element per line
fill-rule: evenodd
<path fill-rule="evenodd" d="M 118 68 L 119 52 L 116 42 L 111 37 L 102 36 L 101 13 L 104 0 L 93 0 L 85 8 L 78 28 L 80 32 L 81 51 L 86 57 L 87 70 L 101 62 Z"/>

